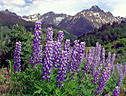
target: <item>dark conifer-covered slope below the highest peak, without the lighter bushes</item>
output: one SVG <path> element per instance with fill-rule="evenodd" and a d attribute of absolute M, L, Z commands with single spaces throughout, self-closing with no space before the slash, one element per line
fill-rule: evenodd
<path fill-rule="evenodd" d="M 78 39 L 86 41 L 87 46 L 95 46 L 95 42 L 104 45 L 121 38 L 126 38 L 125 22 L 113 25 L 103 25 L 100 29 L 84 33 Z"/>

